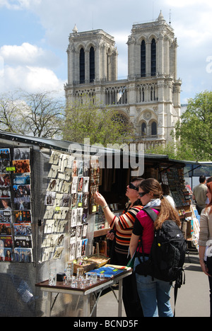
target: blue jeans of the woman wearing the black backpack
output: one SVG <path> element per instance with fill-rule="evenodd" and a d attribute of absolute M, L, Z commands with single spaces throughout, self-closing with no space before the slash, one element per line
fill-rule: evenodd
<path fill-rule="evenodd" d="M 139 258 L 136 257 L 134 269 L 139 263 Z M 153 280 L 151 276 L 145 277 L 141 274 L 136 274 L 136 282 L 144 317 L 173 317 L 170 306 L 172 285 L 169 282 Z"/>

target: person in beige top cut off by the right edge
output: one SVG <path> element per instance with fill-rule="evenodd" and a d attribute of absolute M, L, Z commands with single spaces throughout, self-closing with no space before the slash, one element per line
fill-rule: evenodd
<path fill-rule="evenodd" d="M 207 253 L 208 246 L 212 245 L 212 182 L 207 182 L 207 197 L 209 200 L 206 208 L 201 212 L 199 231 L 199 262 L 202 271 L 208 276 L 210 286 L 210 306 L 212 317 L 212 257 Z"/>

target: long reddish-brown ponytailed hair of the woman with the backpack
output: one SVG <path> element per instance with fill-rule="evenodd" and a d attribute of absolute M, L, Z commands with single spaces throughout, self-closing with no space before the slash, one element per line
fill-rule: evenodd
<path fill-rule="evenodd" d="M 167 221 L 167 219 L 175 221 L 178 226 L 181 225 L 177 209 L 172 207 L 170 202 L 168 202 L 168 200 L 163 197 L 162 187 L 158 180 L 155 180 L 154 178 L 148 178 L 147 180 L 143 180 L 139 187 L 141 187 L 144 192 L 153 192 L 153 198 L 161 200 L 160 213 L 158 214 L 158 217 L 155 221 L 156 230 L 161 228 L 163 222 Z"/>

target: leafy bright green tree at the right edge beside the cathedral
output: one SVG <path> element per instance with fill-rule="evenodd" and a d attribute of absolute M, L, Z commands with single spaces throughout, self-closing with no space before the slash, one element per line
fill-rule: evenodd
<path fill-rule="evenodd" d="M 204 91 L 190 98 L 181 121 L 175 125 L 175 137 L 189 149 L 195 161 L 211 161 L 212 92 Z"/>

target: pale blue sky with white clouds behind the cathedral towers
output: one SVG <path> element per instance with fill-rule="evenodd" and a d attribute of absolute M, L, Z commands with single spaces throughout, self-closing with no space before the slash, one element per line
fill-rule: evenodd
<path fill-rule="evenodd" d="M 119 79 L 127 76 L 128 36 L 134 23 L 160 10 L 177 37 L 181 102 L 212 90 L 211 0 L 0 0 L 0 93 L 59 91 L 67 81 L 69 33 L 105 30 L 119 52 Z"/>

